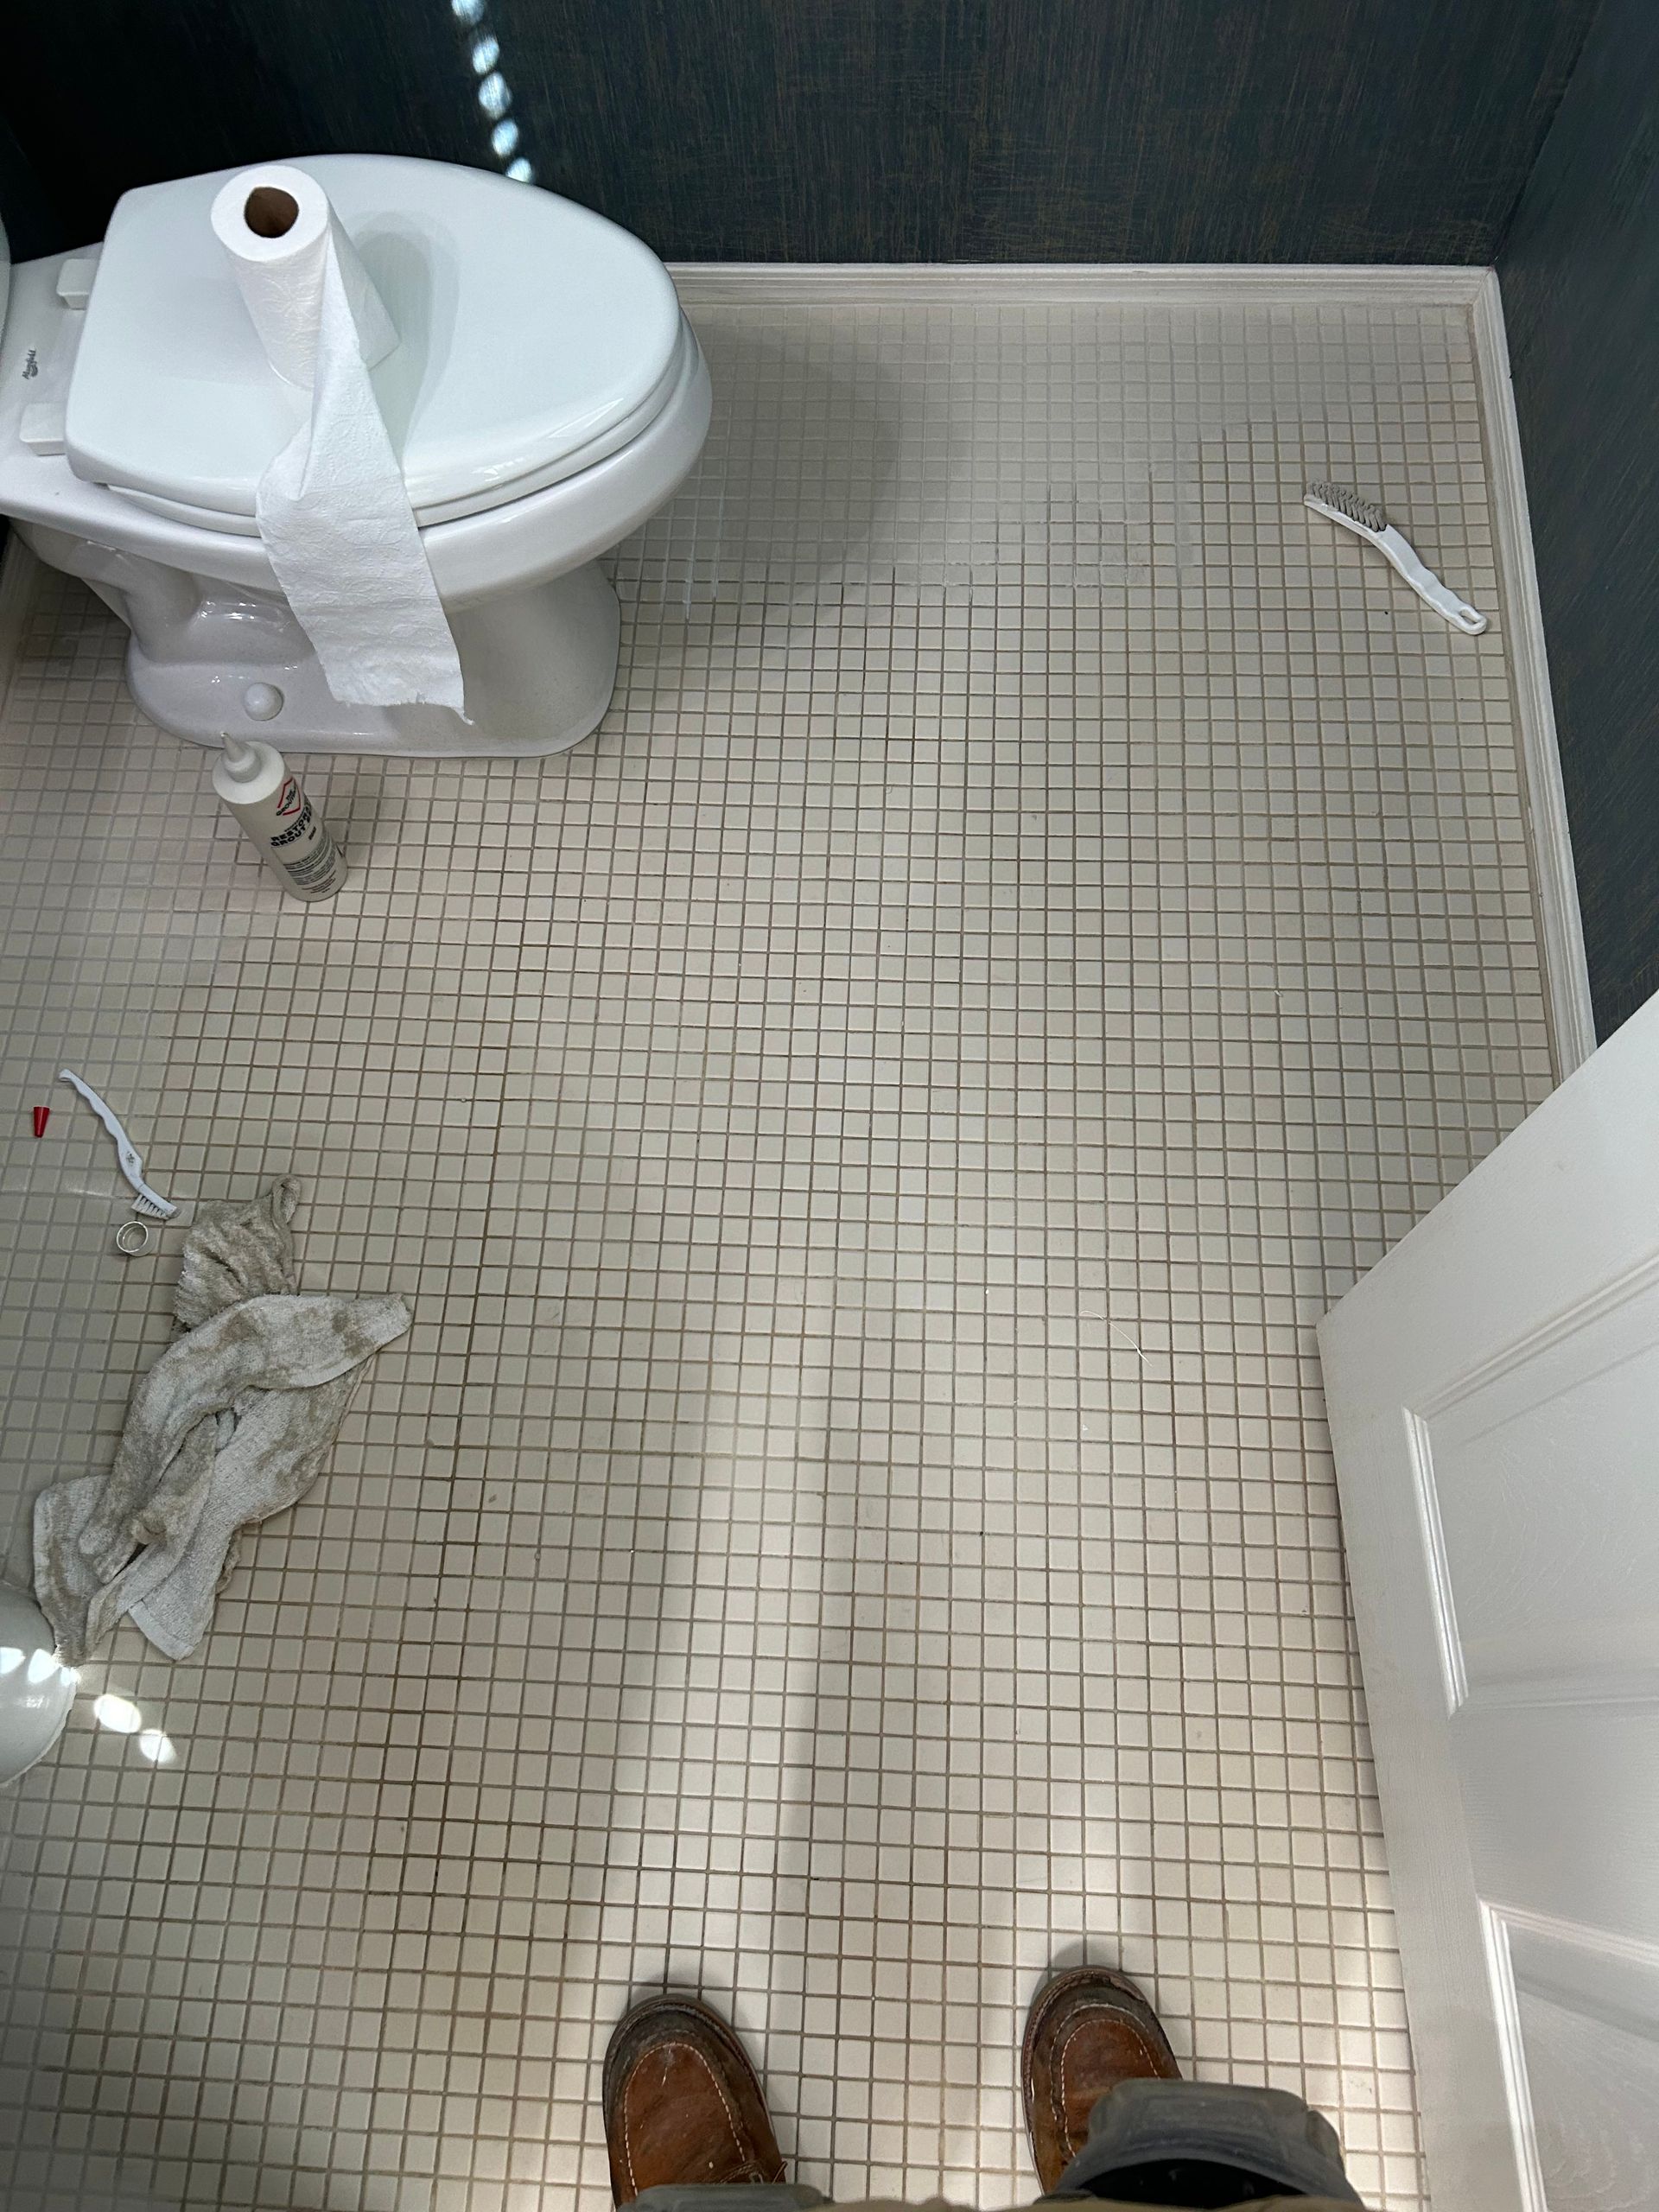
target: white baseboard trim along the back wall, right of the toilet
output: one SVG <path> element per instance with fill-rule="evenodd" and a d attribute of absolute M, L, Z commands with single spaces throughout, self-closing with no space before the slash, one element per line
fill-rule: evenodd
<path fill-rule="evenodd" d="M 1367 263 L 1190 261 L 670 261 L 692 307 L 832 307 L 858 301 L 1099 301 L 1206 307 L 1314 296 L 1325 305 L 1473 307 L 1486 270 Z"/>

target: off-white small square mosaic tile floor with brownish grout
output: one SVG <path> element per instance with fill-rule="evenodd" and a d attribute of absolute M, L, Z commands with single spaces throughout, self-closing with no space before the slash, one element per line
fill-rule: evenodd
<path fill-rule="evenodd" d="M 799 2177 L 1031 2192 L 1117 1960 L 1420 2201 L 1312 1321 L 1548 1086 L 1462 310 L 706 307 L 719 414 L 546 768 L 314 763 L 283 905 L 42 577 L 0 732 L 0 1438 L 106 1464 L 170 1192 L 396 1287 L 195 1659 L 0 1798 L 11 2212 L 608 2201 L 628 1995 Z M 40 1144 L 27 1108 L 51 1102 Z M 155 1747 L 150 1739 L 150 1747 Z M 580 2190 L 573 2192 L 573 2183 Z"/>

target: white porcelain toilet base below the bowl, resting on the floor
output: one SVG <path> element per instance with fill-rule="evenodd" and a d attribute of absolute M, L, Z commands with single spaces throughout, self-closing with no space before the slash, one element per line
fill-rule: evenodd
<path fill-rule="evenodd" d="M 197 745 L 234 730 L 281 752 L 533 759 L 580 745 L 617 681 L 622 613 L 597 562 L 449 611 L 467 721 L 440 706 L 343 706 L 281 599 L 148 562 L 148 588 L 135 591 L 139 564 L 115 555 L 111 566 L 126 573 L 88 582 L 133 628 L 128 690 L 150 721 Z M 175 586 L 170 606 L 157 575 Z M 261 712 L 276 697 L 276 712 Z"/>

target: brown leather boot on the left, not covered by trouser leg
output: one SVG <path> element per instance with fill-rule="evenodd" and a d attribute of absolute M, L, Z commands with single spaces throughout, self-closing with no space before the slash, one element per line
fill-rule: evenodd
<path fill-rule="evenodd" d="M 604 2139 L 619 2205 L 659 2181 L 783 2181 L 761 2081 L 697 1997 L 646 1997 L 617 2022 L 604 2055 Z"/>

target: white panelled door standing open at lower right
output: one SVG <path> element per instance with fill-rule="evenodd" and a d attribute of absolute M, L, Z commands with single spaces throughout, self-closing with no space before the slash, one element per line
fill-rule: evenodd
<path fill-rule="evenodd" d="M 1436 2212 L 1655 2212 L 1659 1002 L 1318 1343 Z"/>

